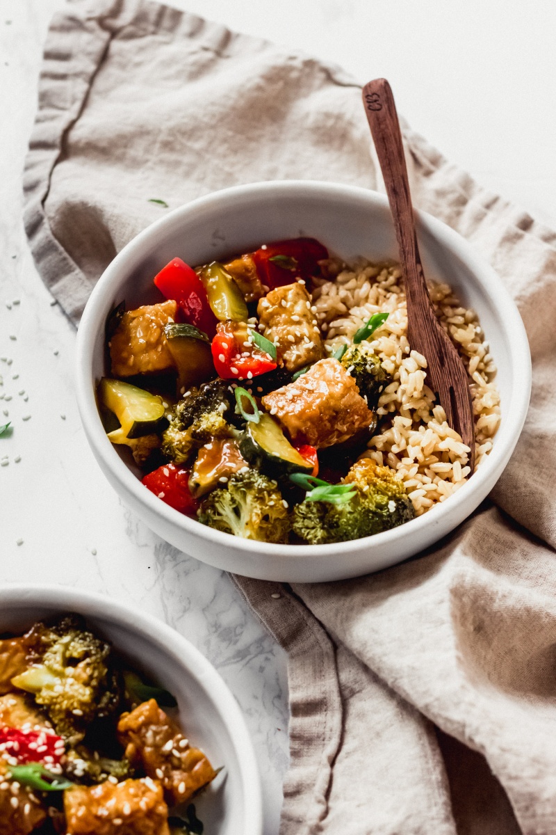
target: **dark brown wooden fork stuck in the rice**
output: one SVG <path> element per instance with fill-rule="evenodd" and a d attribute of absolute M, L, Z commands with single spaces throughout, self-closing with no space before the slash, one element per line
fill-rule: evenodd
<path fill-rule="evenodd" d="M 383 172 L 398 239 L 408 300 L 408 341 L 412 349 L 423 354 L 427 360 L 427 385 L 436 392 L 449 425 L 461 435 L 463 443 L 470 449 L 469 466 L 473 473 L 475 439 L 468 376 L 428 296 L 417 245 L 402 134 L 392 89 L 386 78 L 375 78 L 365 84 L 363 104 Z"/>

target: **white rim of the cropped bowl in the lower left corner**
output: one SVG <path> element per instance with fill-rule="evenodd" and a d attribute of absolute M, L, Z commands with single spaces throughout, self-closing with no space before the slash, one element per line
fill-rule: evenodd
<path fill-rule="evenodd" d="M 245 835 L 262 835 L 263 794 L 253 742 L 232 691 L 218 671 L 193 644 L 177 630 L 154 615 L 134 611 L 126 603 L 95 592 L 54 584 L 5 584 L 0 588 L 0 612 L 9 609 L 37 608 L 75 611 L 86 618 L 103 618 L 133 631 L 156 645 L 163 654 L 185 667 L 209 691 L 218 713 L 228 729 L 238 756 L 242 787 Z M 118 647 L 116 647 L 118 649 Z"/>

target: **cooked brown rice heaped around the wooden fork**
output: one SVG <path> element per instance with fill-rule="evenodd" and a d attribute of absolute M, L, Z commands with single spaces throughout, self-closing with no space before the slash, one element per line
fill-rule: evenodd
<path fill-rule="evenodd" d="M 328 354 L 353 334 L 373 313 L 388 319 L 365 343 L 393 377 L 378 401 L 380 434 L 368 444 L 365 457 L 393 468 L 403 480 L 417 515 L 443 502 L 465 483 L 468 447 L 446 423 L 426 384 L 427 361 L 412 351 L 407 339 L 408 316 L 399 266 L 359 261 L 353 267 L 330 259 L 326 279 L 316 282 L 313 304 L 327 339 Z M 327 279 L 331 279 L 328 281 Z M 492 449 L 500 423 L 500 397 L 492 382 L 496 372 L 477 314 L 462 307 L 447 284 L 429 285 L 433 306 L 467 368 L 475 416 L 475 466 Z"/>

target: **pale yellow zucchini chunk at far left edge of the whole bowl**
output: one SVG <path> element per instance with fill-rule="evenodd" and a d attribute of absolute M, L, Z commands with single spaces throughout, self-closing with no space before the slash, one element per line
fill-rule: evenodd
<path fill-rule="evenodd" d="M 98 399 L 120 422 L 118 429 L 108 433 L 112 443 L 126 443 L 128 439 L 152 435 L 168 426 L 163 398 L 129 382 L 103 377 L 98 385 Z"/>

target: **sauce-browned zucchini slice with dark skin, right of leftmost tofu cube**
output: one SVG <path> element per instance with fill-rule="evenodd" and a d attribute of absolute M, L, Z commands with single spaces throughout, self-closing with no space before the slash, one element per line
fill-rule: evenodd
<path fill-rule="evenodd" d="M 169 322 L 164 326 L 164 336 L 178 369 L 178 396 L 188 388 L 216 377 L 211 343 L 206 333 L 194 325 Z"/>

